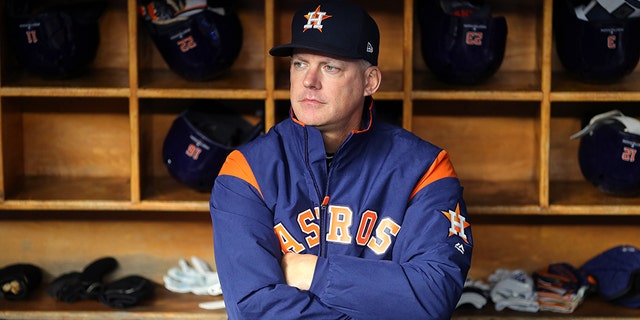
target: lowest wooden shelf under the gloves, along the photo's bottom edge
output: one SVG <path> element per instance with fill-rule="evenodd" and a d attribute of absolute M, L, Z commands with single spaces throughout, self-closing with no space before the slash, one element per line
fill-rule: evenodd
<path fill-rule="evenodd" d="M 137 306 L 127 309 L 113 309 L 95 300 L 66 303 L 58 301 L 39 289 L 29 300 L 8 301 L 0 310 L 3 319 L 227 319 L 224 310 L 204 310 L 199 303 L 221 300 L 220 296 L 196 296 L 169 292 L 157 285 L 154 296 Z M 573 313 L 563 314 L 550 311 L 522 312 L 505 309 L 495 311 L 491 302 L 480 310 L 459 309 L 452 319 L 638 319 L 640 310 L 609 304 L 597 297 L 587 298 Z"/>

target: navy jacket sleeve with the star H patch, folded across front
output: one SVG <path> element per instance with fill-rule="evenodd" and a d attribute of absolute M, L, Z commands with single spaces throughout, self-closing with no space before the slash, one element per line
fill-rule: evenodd
<path fill-rule="evenodd" d="M 310 291 L 354 319 L 450 319 L 472 239 L 458 179 L 441 173 L 409 201 L 391 260 L 319 258 Z"/>

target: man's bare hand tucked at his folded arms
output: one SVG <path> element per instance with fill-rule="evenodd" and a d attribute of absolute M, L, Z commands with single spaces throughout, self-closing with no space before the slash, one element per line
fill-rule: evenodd
<path fill-rule="evenodd" d="M 318 257 L 312 254 L 286 253 L 282 257 L 282 271 L 287 284 L 309 290 Z"/>

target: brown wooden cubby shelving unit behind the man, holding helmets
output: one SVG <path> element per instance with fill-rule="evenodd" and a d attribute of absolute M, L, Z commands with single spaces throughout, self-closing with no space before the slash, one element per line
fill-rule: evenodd
<path fill-rule="evenodd" d="M 470 275 L 498 268 L 533 272 L 581 265 L 619 244 L 640 246 L 640 198 L 616 198 L 583 179 L 582 119 L 619 108 L 640 117 L 640 71 L 614 84 L 576 81 L 554 48 L 553 0 L 489 0 L 509 28 L 505 58 L 487 81 L 455 86 L 422 60 L 418 0 L 358 0 L 381 31 L 381 114 L 449 150 L 465 187 L 475 250 Z M 180 258 L 212 262 L 206 193 L 174 181 L 161 150 L 171 121 L 194 99 L 222 100 L 268 129 L 288 116 L 286 59 L 267 53 L 289 41 L 294 0 L 234 2 L 243 47 L 233 67 L 206 82 L 169 70 L 137 16 L 135 0 L 109 0 L 101 43 L 80 78 L 44 80 L 25 72 L 0 35 L 0 267 L 33 263 L 45 272 L 26 301 L 0 300 L 3 319 L 225 319 L 174 294 L 162 276 Z M 5 11 L 5 1 L 0 0 Z M 4 28 L 4 24 L 0 27 Z M 67 304 L 47 281 L 113 256 L 109 279 L 140 274 L 158 283 L 154 299 L 121 311 L 96 301 Z M 107 280 L 109 280 L 107 279 Z M 591 297 L 573 314 L 456 311 L 455 319 L 640 318 L 640 311 Z"/>

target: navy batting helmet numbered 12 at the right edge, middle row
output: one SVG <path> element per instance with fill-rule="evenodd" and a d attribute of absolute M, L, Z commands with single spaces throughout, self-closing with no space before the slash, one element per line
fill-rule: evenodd
<path fill-rule="evenodd" d="M 640 121 L 618 110 L 601 113 L 571 136 L 581 138 L 578 161 L 583 176 L 606 194 L 640 191 Z"/>

